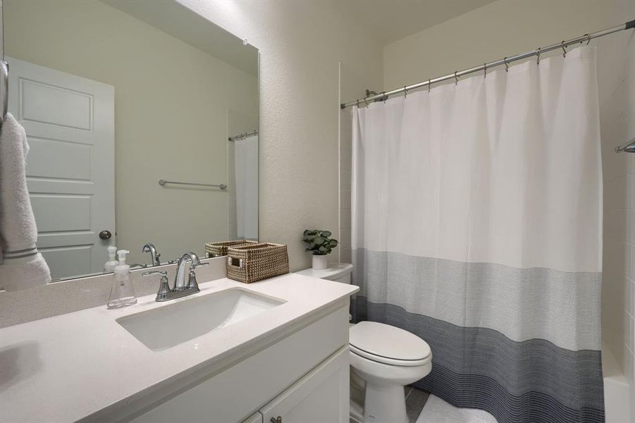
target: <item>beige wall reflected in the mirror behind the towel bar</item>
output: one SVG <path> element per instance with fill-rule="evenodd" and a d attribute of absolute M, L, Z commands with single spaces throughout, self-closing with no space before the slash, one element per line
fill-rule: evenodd
<path fill-rule="evenodd" d="M 129 262 L 228 236 L 228 111 L 257 115 L 257 78 L 96 0 L 5 0 L 6 54 L 115 87 L 117 245 Z M 104 257 L 104 262 L 107 257 Z"/>

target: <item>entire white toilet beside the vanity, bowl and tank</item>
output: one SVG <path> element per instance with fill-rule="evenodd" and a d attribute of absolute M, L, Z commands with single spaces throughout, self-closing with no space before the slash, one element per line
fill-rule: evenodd
<path fill-rule="evenodd" d="M 350 283 L 352 264 L 297 273 Z M 351 417 L 362 423 L 407 423 L 404 386 L 432 370 L 432 351 L 419 336 L 388 324 L 352 324 Z"/>

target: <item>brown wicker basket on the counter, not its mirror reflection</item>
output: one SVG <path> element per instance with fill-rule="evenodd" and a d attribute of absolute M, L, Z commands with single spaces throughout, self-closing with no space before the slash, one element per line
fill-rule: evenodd
<path fill-rule="evenodd" d="M 260 243 L 227 250 L 227 277 L 234 281 L 252 283 L 288 273 L 286 245 Z"/>

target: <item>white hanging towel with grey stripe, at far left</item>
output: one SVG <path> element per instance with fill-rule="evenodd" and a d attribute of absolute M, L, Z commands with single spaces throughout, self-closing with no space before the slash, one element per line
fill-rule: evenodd
<path fill-rule="evenodd" d="M 26 181 L 29 152 L 24 128 L 7 114 L 0 128 L 0 286 L 19 290 L 51 281 L 37 252 L 37 226 Z"/>

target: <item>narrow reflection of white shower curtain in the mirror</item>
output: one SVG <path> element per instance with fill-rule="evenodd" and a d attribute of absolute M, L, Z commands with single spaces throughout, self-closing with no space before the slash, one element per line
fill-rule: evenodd
<path fill-rule="evenodd" d="M 258 240 L 258 135 L 235 140 L 236 231 L 239 239 Z"/>

